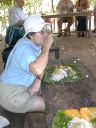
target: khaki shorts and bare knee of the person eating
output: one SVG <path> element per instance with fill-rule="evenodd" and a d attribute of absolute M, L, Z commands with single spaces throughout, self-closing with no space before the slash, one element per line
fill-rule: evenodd
<path fill-rule="evenodd" d="M 40 96 L 31 96 L 29 88 L 18 85 L 7 85 L 0 82 L 0 105 L 10 112 L 25 113 L 45 109 Z"/>

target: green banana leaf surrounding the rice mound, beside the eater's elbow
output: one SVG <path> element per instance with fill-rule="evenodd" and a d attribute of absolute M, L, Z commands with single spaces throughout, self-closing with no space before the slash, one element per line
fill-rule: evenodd
<path fill-rule="evenodd" d="M 59 66 L 64 66 L 64 67 L 71 67 L 72 68 L 72 72 L 75 72 L 75 74 L 70 74 L 67 77 L 62 78 L 59 81 L 55 81 L 51 79 L 52 74 L 54 73 L 54 71 L 56 70 L 56 67 Z M 79 80 L 83 80 L 85 79 L 84 74 L 77 68 L 77 66 L 75 64 L 68 64 L 68 65 L 56 65 L 56 66 L 47 66 L 47 68 L 45 69 L 44 72 L 44 76 L 42 81 L 44 83 L 48 83 L 48 84 L 61 84 L 63 85 L 64 83 L 69 83 L 69 82 L 75 82 L 75 81 L 79 81 Z"/>

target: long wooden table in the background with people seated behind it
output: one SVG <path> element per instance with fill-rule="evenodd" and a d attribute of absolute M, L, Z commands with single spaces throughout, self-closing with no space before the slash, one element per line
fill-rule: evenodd
<path fill-rule="evenodd" d="M 91 15 L 92 15 L 92 11 L 83 11 L 83 12 L 72 12 L 72 13 L 49 13 L 46 15 L 41 15 L 42 18 L 60 18 L 60 17 L 77 17 L 77 16 L 87 16 L 87 19 L 89 20 L 89 24 L 88 24 L 88 37 L 90 37 L 91 34 Z"/>

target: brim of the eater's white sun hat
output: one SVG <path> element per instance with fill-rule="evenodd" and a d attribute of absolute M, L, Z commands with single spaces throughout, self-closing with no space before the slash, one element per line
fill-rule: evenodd
<path fill-rule="evenodd" d="M 51 25 L 51 23 L 45 22 L 45 23 L 39 24 L 39 25 L 38 25 L 38 28 L 37 28 L 37 27 L 30 28 L 27 32 L 25 32 L 23 38 L 26 37 L 26 35 L 27 35 L 29 32 L 39 32 L 39 31 L 41 31 L 42 28 L 43 28 L 45 25 Z"/>

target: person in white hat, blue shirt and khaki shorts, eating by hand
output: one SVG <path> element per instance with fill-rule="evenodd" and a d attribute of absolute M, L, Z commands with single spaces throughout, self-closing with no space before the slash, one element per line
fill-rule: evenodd
<path fill-rule="evenodd" d="M 14 113 L 44 111 L 45 103 L 38 92 L 53 43 L 41 16 L 28 17 L 25 35 L 11 51 L 0 76 L 0 105 Z"/>

